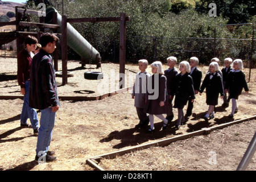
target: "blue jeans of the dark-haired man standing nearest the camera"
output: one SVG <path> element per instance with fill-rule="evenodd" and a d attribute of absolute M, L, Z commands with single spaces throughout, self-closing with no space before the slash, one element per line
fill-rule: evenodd
<path fill-rule="evenodd" d="M 52 139 L 52 131 L 55 124 L 56 112 L 52 112 L 52 107 L 41 110 L 40 128 L 38 133 L 38 143 L 36 145 L 36 155 L 45 156 L 49 150 Z"/>

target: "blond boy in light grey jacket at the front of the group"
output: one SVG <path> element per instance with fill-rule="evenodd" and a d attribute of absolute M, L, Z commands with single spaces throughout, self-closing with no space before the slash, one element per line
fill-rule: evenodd
<path fill-rule="evenodd" d="M 146 71 L 148 62 L 146 59 L 138 61 L 140 72 L 136 74 L 133 93 L 131 97 L 134 99 L 134 106 L 136 107 L 139 123 L 135 127 L 144 127 L 149 123 L 148 114 L 144 113 L 144 107 L 146 102 L 147 93 L 147 80 L 150 77 L 150 73 Z"/>

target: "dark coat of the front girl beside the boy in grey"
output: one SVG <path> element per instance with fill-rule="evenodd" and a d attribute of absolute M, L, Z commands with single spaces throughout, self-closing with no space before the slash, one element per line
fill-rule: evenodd
<path fill-rule="evenodd" d="M 155 83 L 155 76 L 158 76 L 159 78 L 159 85 Z M 150 97 L 154 96 L 154 93 L 150 93 L 150 90 L 147 90 L 147 100 L 146 100 L 146 107 L 145 107 L 145 113 L 148 114 L 168 114 L 170 115 L 170 108 L 168 104 L 168 98 L 167 98 L 167 89 L 166 89 L 166 77 L 164 75 L 160 74 L 154 74 L 151 75 L 148 78 L 148 84 L 152 84 L 152 89 L 156 89 L 156 92 L 158 92 L 158 97 L 155 99 L 150 99 Z M 158 86 L 158 88 L 157 88 Z M 148 88 L 151 88 L 151 86 L 148 86 Z M 160 102 L 164 101 L 164 106 L 160 106 Z"/>

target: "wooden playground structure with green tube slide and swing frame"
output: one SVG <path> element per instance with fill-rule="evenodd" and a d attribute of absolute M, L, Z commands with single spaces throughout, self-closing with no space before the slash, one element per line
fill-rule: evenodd
<path fill-rule="evenodd" d="M 47 9 L 46 17 L 41 16 L 39 23 L 30 22 L 30 14 L 38 15 L 40 11 L 27 10 L 22 7 L 15 7 L 15 20 L 12 22 L 1 22 L 0 26 L 15 25 L 16 31 L 0 33 L 0 44 L 6 44 L 16 39 L 17 53 L 23 49 L 24 38 L 32 35 L 38 38 L 43 34 L 46 28 L 61 38 L 61 60 L 62 60 L 62 85 L 68 84 L 68 46 L 81 56 L 81 64 L 96 64 L 101 68 L 100 53 L 84 39 L 79 32 L 69 23 L 82 22 L 120 22 L 120 39 L 119 39 L 119 73 L 125 73 L 126 62 L 126 22 L 130 20 L 129 16 L 121 13 L 119 17 L 102 17 L 102 18 L 71 18 L 66 15 L 61 16 L 54 8 Z M 38 27 L 39 32 L 31 32 L 31 27 Z M 25 31 L 27 30 L 27 31 Z M 53 52 L 53 62 L 55 70 L 58 71 L 58 50 Z M 123 85 L 119 85 L 122 89 Z"/>

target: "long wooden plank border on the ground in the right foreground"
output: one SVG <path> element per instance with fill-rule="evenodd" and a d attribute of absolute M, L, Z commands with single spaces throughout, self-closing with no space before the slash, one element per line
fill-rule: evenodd
<path fill-rule="evenodd" d="M 100 163 L 101 159 L 114 159 L 117 156 L 121 156 L 121 155 L 130 153 L 130 152 L 133 152 L 133 151 L 143 150 L 143 149 L 150 148 L 150 147 L 168 146 L 169 144 L 171 144 L 172 142 L 176 142 L 177 140 L 184 140 L 184 139 L 188 139 L 188 138 L 195 137 L 195 136 L 198 136 L 198 135 L 207 135 L 211 131 L 220 130 L 220 129 L 223 129 L 224 127 L 236 125 L 236 124 L 241 123 L 241 122 L 250 121 L 252 119 L 256 119 L 256 115 L 254 115 L 252 117 L 245 118 L 245 119 L 238 119 L 237 121 L 224 123 L 224 124 L 218 125 L 218 126 L 214 126 L 214 127 L 210 127 L 210 128 L 204 128 L 204 129 L 201 129 L 199 131 L 194 131 L 192 133 L 188 133 L 188 134 L 185 134 L 185 135 L 180 135 L 180 136 L 177 136 L 177 137 L 167 138 L 167 139 L 163 139 L 163 140 L 157 140 L 156 142 L 141 144 L 141 145 L 138 145 L 138 146 L 135 146 L 135 147 L 130 147 L 130 148 L 126 148 L 126 149 L 123 149 L 123 150 L 110 152 L 108 154 L 98 155 L 98 156 L 95 156 L 93 158 L 90 158 L 90 159 L 86 160 L 86 164 L 93 167 L 97 171 L 103 171 L 104 169 L 101 168 L 100 166 L 98 166 L 98 163 Z"/>

